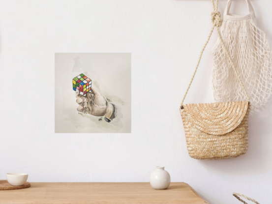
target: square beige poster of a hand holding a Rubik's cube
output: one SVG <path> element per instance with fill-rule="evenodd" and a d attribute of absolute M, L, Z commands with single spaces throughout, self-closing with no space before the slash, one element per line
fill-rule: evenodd
<path fill-rule="evenodd" d="M 130 53 L 55 53 L 55 133 L 131 133 Z"/>

